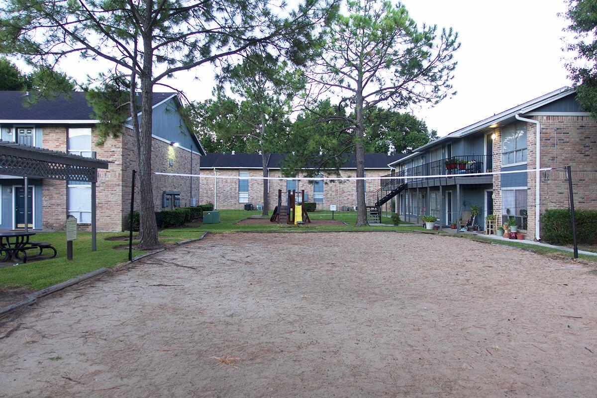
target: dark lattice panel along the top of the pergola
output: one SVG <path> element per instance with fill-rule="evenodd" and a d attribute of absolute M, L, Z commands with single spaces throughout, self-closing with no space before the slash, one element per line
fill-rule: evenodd
<path fill-rule="evenodd" d="M 11 155 L 0 155 L 0 174 L 91 183 L 96 181 L 95 168 L 23 159 Z"/>

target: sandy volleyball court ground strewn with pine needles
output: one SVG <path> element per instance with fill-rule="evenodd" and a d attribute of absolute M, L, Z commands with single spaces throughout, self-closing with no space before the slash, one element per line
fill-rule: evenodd
<path fill-rule="evenodd" d="M 2 327 L 0 396 L 595 397 L 590 270 L 450 236 L 208 235 Z"/>

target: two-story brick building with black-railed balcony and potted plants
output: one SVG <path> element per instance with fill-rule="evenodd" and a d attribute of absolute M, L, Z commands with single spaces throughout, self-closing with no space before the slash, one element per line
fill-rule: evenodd
<path fill-rule="evenodd" d="M 393 162 L 396 172 L 414 176 L 398 193 L 397 211 L 411 221 L 426 212 L 448 226 L 476 205 L 481 209 L 475 221 L 479 227 L 488 214 L 496 214 L 498 224 L 515 217 L 527 239 L 540 239 L 536 214 L 568 207 L 568 180 L 562 169 L 540 172 L 537 189 L 536 172 L 526 171 L 568 165 L 582 171 L 573 175 L 575 206 L 597 209 L 597 173 L 590 172 L 597 169 L 595 153 L 597 122 L 580 110 L 574 89 L 563 87 L 451 132 Z M 466 165 L 454 171 L 449 169 L 453 161 Z M 467 176 L 491 171 L 514 173 Z"/>

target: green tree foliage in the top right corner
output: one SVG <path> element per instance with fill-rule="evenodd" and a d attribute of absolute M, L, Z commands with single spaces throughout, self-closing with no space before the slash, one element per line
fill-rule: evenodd
<path fill-rule="evenodd" d="M 576 56 L 566 68 L 576 87 L 576 100 L 597 118 L 597 1 L 569 0 L 565 17 L 570 21 L 565 30 L 574 35 L 566 49 Z"/>

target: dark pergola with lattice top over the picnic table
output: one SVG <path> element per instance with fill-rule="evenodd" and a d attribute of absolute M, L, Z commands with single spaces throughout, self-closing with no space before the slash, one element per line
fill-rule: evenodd
<path fill-rule="evenodd" d="M 56 150 L 24 146 L 0 140 L 0 174 L 23 177 L 24 227 L 28 229 L 27 192 L 29 178 L 84 181 L 91 183 L 91 250 L 96 250 L 96 183 L 97 169 L 107 169 L 109 161 L 72 155 Z M 64 214 L 66 220 L 67 214 Z"/>

